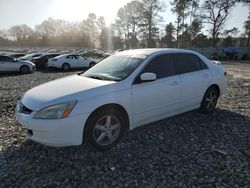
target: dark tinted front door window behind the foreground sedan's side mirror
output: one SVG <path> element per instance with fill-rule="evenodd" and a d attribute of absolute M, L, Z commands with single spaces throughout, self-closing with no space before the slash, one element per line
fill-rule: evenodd
<path fill-rule="evenodd" d="M 156 74 L 156 78 L 164 78 L 175 74 L 175 66 L 172 55 L 161 55 L 154 58 L 142 73 L 152 72 Z"/>

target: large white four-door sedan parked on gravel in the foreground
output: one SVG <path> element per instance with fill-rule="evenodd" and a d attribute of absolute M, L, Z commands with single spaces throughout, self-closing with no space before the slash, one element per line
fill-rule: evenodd
<path fill-rule="evenodd" d="M 99 151 L 124 133 L 200 108 L 212 112 L 227 86 L 219 62 L 180 49 L 128 50 L 88 71 L 27 91 L 16 107 L 27 137 L 49 146 Z"/>

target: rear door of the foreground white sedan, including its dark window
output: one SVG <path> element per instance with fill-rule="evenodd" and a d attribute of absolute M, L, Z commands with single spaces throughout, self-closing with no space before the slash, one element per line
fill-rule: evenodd
<path fill-rule="evenodd" d="M 211 82 L 210 69 L 194 54 L 177 53 L 174 55 L 174 61 L 182 83 L 183 107 L 200 105 Z"/>

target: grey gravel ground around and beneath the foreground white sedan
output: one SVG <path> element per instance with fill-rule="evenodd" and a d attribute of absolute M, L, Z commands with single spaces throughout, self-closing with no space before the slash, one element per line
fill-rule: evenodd
<path fill-rule="evenodd" d="M 15 102 L 25 91 L 77 71 L 3 75 L 0 187 L 249 187 L 250 65 L 225 67 L 228 91 L 215 113 L 145 125 L 105 153 L 28 141 L 15 120 Z"/>

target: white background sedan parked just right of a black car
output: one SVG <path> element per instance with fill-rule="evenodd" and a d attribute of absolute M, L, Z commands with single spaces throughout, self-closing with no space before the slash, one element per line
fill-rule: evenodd
<path fill-rule="evenodd" d="M 80 55 L 63 54 L 54 58 L 50 58 L 47 65 L 48 68 L 58 68 L 67 71 L 71 68 L 93 67 L 95 62 Z"/>

